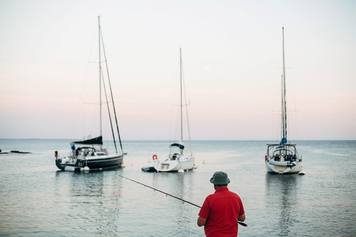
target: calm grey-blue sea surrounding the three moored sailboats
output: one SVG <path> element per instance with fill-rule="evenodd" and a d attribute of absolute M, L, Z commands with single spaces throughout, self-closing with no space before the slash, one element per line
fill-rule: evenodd
<path fill-rule="evenodd" d="M 180 174 L 141 172 L 170 142 L 124 141 L 125 167 L 73 173 L 54 164 L 67 140 L 0 140 L 3 152 L 31 152 L 0 154 L 0 235 L 204 236 L 199 208 L 118 175 L 201 206 L 224 171 L 245 207 L 239 236 L 355 236 L 356 141 L 297 142 L 305 176 L 267 174 L 266 143 L 193 141 L 198 168 Z"/>

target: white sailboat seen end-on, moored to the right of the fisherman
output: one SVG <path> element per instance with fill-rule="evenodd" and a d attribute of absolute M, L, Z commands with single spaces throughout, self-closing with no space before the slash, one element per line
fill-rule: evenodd
<path fill-rule="evenodd" d="M 285 90 L 285 66 L 284 66 L 284 28 L 283 37 L 283 74 L 282 74 L 282 139 L 279 144 L 267 144 L 267 153 L 264 157 L 268 173 L 304 175 L 302 171 L 302 155 L 296 150 L 296 144 L 287 141 L 287 112 L 286 112 L 286 90 Z"/>

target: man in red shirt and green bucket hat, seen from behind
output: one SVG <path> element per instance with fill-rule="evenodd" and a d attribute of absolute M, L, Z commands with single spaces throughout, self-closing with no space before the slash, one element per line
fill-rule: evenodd
<path fill-rule="evenodd" d="M 238 220 L 245 221 L 245 211 L 238 194 L 229 191 L 227 174 L 215 172 L 210 182 L 215 193 L 204 200 L 198 217 L 198 226 L 204 226 L 206 236 L 237 236 Z"/>

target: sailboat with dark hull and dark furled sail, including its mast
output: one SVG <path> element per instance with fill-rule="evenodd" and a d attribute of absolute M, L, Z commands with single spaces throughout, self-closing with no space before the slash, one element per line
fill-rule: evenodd
<path fill-rule="evenodd" d="M 120 167 L 123 165 L 124 155 L 126 154 L 123 152 L 120 132 L 118 130 L 118 123 L 117 123 L 117 117 L 115 112 L 114 100 L 112 96 L 110 77 L 109 77 L 109 72 L 107 70 L 105 48 L 104 48 L 103 37 L 102 37 L 102 32 L 100 27 L 100 16 L 98 17 L 98 21 L 99 21 L 99 72 L 100 72 L 99 73 L 100 136 L 93 139 L 70 142 L 71 152 L 68 155 L 68 157 L 58 158 L 58 153 L 57 151 L 55 151 L 55 158 L 56 158 L 55 164 L 62 171 L 104 170 L 108 168 Z M 104 82 L 104 75 L 103 75 L 102 64 L 101 64 L 102 51 L 105 59 L 107 81 L 110 89 L 109 94 L 111 95 L 111 102 L 108 101 L 107 91 Z M 103 103 L 102 101 L 102 88 L 101 88 L 102 85 L 105 92 L 105 99 L 106 99 L 105 103 Z M 110 118 L 109 120 L 111 125 L 111 132 L 112 132 L 113 142 L 116 151 L 114 154 L 109 154 L 108 151 L 103 148 L 103 137 L 102 137 L 102 105 L 103 104 L 107 105 L 108 115 Z M 121 148 L 119 152 L 117 151 L 109 105 L 112 106 L 112 110 L 116 122 L 117 136 Z"/>

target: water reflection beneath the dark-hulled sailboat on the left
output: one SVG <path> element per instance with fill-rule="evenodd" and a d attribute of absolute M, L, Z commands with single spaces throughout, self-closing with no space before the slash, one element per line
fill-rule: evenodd
<path fill-rule="evenodd" d="M 121 209 L 122 179 L 116 172 L 57 172 L 55 196 L 61 211 L 67 213 L 62 225 L 85 233 L 114 235 Z"/>

